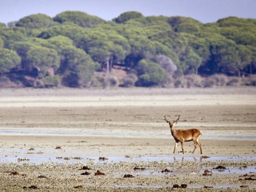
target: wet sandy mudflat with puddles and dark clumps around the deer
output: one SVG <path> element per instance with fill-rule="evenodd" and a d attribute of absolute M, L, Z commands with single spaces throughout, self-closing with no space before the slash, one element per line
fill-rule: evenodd
<path fill-rule="evenodd" d="M 0 90 L 0 191 L 255 191 L 255 94 Z M 163 114 L 203 131 L 203 155 L 192 142 L 173 154 Z"/>

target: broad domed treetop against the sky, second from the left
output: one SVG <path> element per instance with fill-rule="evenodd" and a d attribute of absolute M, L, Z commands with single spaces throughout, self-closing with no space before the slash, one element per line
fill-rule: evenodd
<path fill-rule="evenodd" d="M 72 22 L 80 27 L 92 27 L 105 22 L 103 19 L 100 19 L 100 17 L 88 15 L 80 11 L 65 11 L 56 15 L 53 20 L 59 23 Z"/>

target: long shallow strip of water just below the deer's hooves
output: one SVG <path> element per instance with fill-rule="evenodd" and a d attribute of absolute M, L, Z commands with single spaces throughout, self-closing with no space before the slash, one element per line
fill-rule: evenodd
<path fill-rule="evenodd" d="M 256 156 L 112 156 L 107 157 L 106 161 L 99 160 L 97 156 L 81 156 L 84 149 L 40 149 L 36 148 L 30 151 L 28 148 L 0 148 L 0 163 L 16 163 L 17 159 L 29 159 L 30 164 L 42 164 L 45 162 L 75 164 L 85 161 L 93 161 L 95 164 L 117 163 L 117 162 L 206 162 L 206 161 L 256 161 Z M 88 152 L 87 152 L 88 153 Z M 65 159 L 66 158 L 66 159 Z"/>

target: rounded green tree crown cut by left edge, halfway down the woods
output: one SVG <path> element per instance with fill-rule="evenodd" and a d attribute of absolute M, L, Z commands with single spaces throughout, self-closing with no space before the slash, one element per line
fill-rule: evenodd
<path fill-rule="evenodd" d="M 10 49 L 0 49 L 0 75 L 20 64 L 18 54 Z"/>

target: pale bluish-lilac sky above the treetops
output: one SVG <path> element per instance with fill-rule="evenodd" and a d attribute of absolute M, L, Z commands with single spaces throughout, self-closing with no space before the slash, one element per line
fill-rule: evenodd
<path fill-rule="evenodd" d="M 80 10 L 104 20 L 135 10 L 144 16 L 186 16 L 202 23 L 236 16 L 256 19 L 256 0 L 0 0 L 0 22 L 31 14 L 50 17 L 66 10 Z"/>

